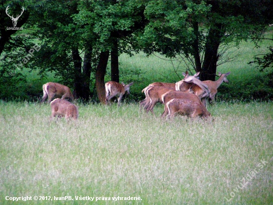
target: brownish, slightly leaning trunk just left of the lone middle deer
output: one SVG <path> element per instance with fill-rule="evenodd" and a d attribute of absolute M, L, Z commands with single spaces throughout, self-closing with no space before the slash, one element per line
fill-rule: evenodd
<path fill-rule="evenodd" d="M 99 63 L 96 70 L 95 85 L 96 91 L 100 103 L 105 104 L 105 86 L 104 86 L 104 76 L 106 73 L 106 67 L 109 58 L 109 51 L 102 51 L 99 57 Z"/>

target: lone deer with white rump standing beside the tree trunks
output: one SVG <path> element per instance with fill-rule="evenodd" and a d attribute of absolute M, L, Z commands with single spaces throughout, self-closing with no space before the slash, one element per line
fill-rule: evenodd
<path fill-rule="evenodd" d="M 121 99 L 125 92 L 127 91 L 128 94 L 130 94 L 130 86 L 133 85 L 132 83 L 129 83 L 128 85 L 125 85 L 123 82 L 117 83 L 115 81 L 109 81 L 105 84 L 105 93 L 106 93 L 106 98 L 105 98 L 105 104 L 107 104 L 113 97 L 117 96 L 118 97 L 118 106 L 120 106 Z"/>

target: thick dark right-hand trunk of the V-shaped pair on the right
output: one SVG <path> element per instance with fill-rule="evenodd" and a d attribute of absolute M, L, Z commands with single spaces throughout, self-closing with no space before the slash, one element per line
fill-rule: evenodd
<path fill-rule="evenodd" d="M 215 81 L 217 61 L 219 58 L 218 48 L 223 36 L 221 24 L 217 24 L 214 28 L 210 28 L 205 43 L 205 57 L 202 65 L 200 80 Z"/>

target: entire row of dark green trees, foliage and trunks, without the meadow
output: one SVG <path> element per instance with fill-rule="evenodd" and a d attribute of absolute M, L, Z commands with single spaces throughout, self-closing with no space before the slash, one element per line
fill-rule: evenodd
<path fill-rule="evenodd" d="M 6 29 L 11 21 L 4 10 L 11 4 L 16 11 L 26 8 L 17 24 L 31 29 L 26 35 Z M 25 66 L 39 70 L 41 76 L 54 71 L 74 88 L 76 98 L 84 100 L 93 95 L 93 73 L 101 102 L 109 56 L 112 80 L 119 81 L 118 56 L 123 52 L 184 55 L 202 80 L 215 80 L 219 46 L 258 39 L 272 23 L 272 4 L 272 0 L 1 1 L 2 65 L 14 68 L 18 63 L 14 59 L 24 58 L 38 43 L 40 51 Z M 1 69 L 2 78 L 7 72 Z"/>

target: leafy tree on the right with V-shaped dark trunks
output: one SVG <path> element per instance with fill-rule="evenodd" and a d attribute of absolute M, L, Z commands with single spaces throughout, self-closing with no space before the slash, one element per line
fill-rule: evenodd
<path fill-rule="evenodd" d="M 140 38 L 148 54 L 160 52 L 194 58 L 201 80 L 215 80 L 220 44 L 238 45 L 262 35 L 272 19 L 272 0 L 151 0 L 146 2 L 149 24 Z"/>

